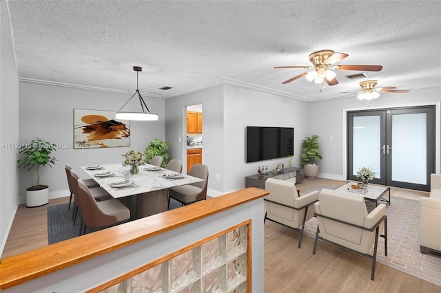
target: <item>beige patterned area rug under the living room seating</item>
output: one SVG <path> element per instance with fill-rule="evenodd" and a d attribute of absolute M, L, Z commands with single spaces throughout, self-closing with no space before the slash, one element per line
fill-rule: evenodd
<path fill-rule="evenodd" d="M 380 237 L 377 262 L 441 286 L 441 255 L 420 253 L 420 202 L 391 197 L 386 215 L 388 255 L 384 255 L 384 239 Z M 316 218 L 305 223 L 305 235 L 315 238 L 316 230 Z"/>

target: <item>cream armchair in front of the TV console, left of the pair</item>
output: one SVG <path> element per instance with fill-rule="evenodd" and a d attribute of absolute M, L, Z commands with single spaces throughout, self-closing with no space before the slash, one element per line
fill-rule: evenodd
<path fill-rule="evenodd" d="M 269 195 L 264 198 L 265 219 L 299 230 L 300 248 L 305 222 L 314 216 L 313 204 L 318 201 L 318 191 L 299 197 L 294 182 L 274 178 L 267 179 L 265 189 L 269 191 Z M 301 229 L 298 228 L 300 226 Z"/>

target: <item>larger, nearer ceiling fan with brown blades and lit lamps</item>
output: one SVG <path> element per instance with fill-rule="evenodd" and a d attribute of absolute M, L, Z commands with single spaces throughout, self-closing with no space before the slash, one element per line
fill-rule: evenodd
<path fill-rule="evenodd" d="M 274 69 L 314 68 L 310 72 L 303 72 L 302 74 L 298 74 L 298 76 L 294 76 L 293 78 L 289 78 L 288 80 L 285 80 L 283 84 L 291 83 L 291 81 L 305 76 L 307 80 L 309 80 L 310 82 L 312 80 L 314 80 L 315 83 L 323 83 L 323 81 L 326 81 L 326 83 L 329 86 L 338 84 L 338 80 L 336 79 L 336 73 L 334 72 L 334 70 L 358 70 L 358 71 L 367 71 L 367 72 L 379 72 L 382 69 L 381 65 L 334 65 L 334 63 L 341 61 L 347 56 L 349 55 L 345 53 L 334 52 L 332 50 L 320 50 L 309 55 L 309 61 L 311 61 L 312 65 L 277 66 L 274 67 Z"/>

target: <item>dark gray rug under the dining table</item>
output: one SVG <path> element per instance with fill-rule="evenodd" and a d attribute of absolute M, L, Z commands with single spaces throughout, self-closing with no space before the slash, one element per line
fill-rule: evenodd
<path fill-rule="evenodd" d="M 72 219 L 72 205 L 68 210 L 69 204 L 59 204 L 57 206 L 48 207 L 48 242 L 49 244 L 57 243 L 73 237 L 79 236 L 80 222 L 81 222 L 81 210 L 79 210 L 76 216 L 75 225 L 73 225 Z M 180 208 L 182 205 L 176 200 L 170 200 L 170 210 L 174 208 Z M 90 230 L 86 230 L 86 233 Z"/>

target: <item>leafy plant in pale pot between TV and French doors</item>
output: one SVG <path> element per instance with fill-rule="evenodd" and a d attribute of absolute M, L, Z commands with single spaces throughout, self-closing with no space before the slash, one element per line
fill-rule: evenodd
<path fill-rule="evenodd" d="M 314 163 L 314 160 L 322 160 L 320 150 L 318 149 L 319 136 L 314 134 L 311 138 L 305 137 L 302 141 L 302 158 L 300 164 L 305 169 L 305 176 L 309 179 L 314 179 L 318 174 L 318 164 Z"/>

